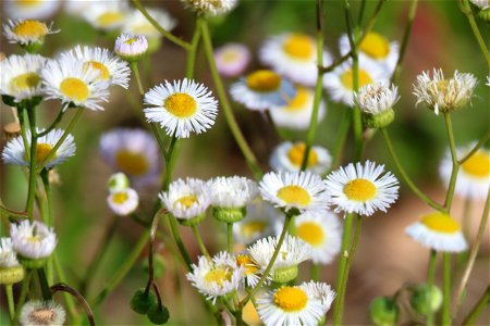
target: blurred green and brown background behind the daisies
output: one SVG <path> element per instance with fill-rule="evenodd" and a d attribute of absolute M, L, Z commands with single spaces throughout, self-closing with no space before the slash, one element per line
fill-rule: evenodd
<path fill-rule="evenodd" d="M 359 1 L 352 1 L 354 12 Z M 372 13 L 377 1 L 368 0 L 365 22 Z M 166 9 L 177 20 L 173 34 L 189 40 L 194 28 L 194 15 L 176 0 L 144 1 L 145 5 Z M 373 30 L 385 35 L 391 40 L 401 41 L 405 28 L 409 1 L 388 1 L 375 25 Z M 324 37 L 330 52 L 339 55 L 338 39 L 345 33 L 343 7 L 341 1 L 324 1 Z M 1 13 L 1 21 L 9 17 Z M 113 48 L 113 36 L 103 35 L 94 29 L 82 18 L 71 16 L 62 11 L 52 17 L 54 27 L 61 33 L 48 36 L 41 54 L 50 57 L 77 43 L 98 45 Z M 264 39 L 282 32 L 315 32 L 315 2 L 309 0 L 278 1 L 240 1 L 238 7 L 229 15 L 211 20 L 211 32 L 216 46 L 230 41 L 247 45 L 255 54 L 249 70 L 260 67 L 257 50 Z M 483 39 L 489 40 L 489 25 L 480 24 Z M 1 52 L 9 55 L 20 52 L 17 48 L 1 40 Z M 448 149 L 446 135 L 441 116 L 422 106 L 415 108 L 412 95 L 413 83 L 417 74 L 432 67 L 441 67 L 446 75 L 453 71 L 473 73 L 479 79 L 471 105 L 452 114 L 457 145 L 467 145 L 479 138 L 490 124 L 490 87 L 483 84 L 489 71 L 479 51 L 465 15 L 456 1 L 420 1 L 413 26 L 412 37 L 403 64 L 399 89 L 401 100 L 396 104 L 396 120 L 390 126 L 390 133 L 399 155 L 408 174 L 416 184 L 437 201 L 442 201 L 445 185 L 438 175 L 438 165 Z M 185 74 L 185 53 L 169 41 L 142 65 L 145 89 L 163 82 L 182 78 Z M 203 51 L 198 52 L 196 79 L 213 88 Z M 69 283 L 75 288 L 85 276 L 87 264 L 106 234 L 106 228 L 114 216 L 106 204 L 106 181 L 113 172 L 103 162 L 99 153 L 100 136 L 114 127 L 142 127 L 147 124 L 142 117 L 142 105 L 137 101 L 137 89 L 132 80 L 130 91 L 112 88 L 110 103 L 103 112 L 86 112 L 76 126 L 75 137 L 77 152 L 66 164 L 58 168 L 59 183 L 54 187 L 56 230 L 59 237 L 58 251 L 65 266 Z M 231 80 L 226 80 L 229 83 Z M 328 99 L 328 97 L 326 97 Z M 262 167 L 269 170 L 268 160 L 271 149 L 279 143 L 277 134 L 262 115 L 246 111 L 234 103 L 233 109 L 245 137 L 256 152 Z M 58 114 L 59 104 L 46 102 L 39 108 L 39 121 L 47 125 Z M 316 143 L 332 150 L 338 133 L 338 125 L 345 106 L 328 101 L 327 117 L 320 122 Z M 2 126 L 12 122 L 10 108 L 2 103 L 0 111 Z M 65 118 L 66 120 L 66 118 Z M 283 130 L 291 140 L 304 140 L 306 133 Z M 365 158 L 383 163 L 388 170 L 397 175 L 389 158 L 380 135 L 369 134 Z M 2 133 L 1 146 L 5 135 Z M 352 140 L 352 139 L 351 139 Z M 352 141 L 344 149 L 344 163 L 350 162 L 353 150 Z M 252 176 L 243 156 L 236 147 L 222 114 L 208 133 L 193 136 L 183 141 L 174 178 L 199 177 L 208 179 L 218 175 Z M 22 210 L 26 197 L 26 178 L 17 166 L 0 167 L 1 199 L 14 210 Z M 148 187 L 140 192 L 140 214 L 151 209 L 157 187 Z M 453 214 L 461 218 L 464 200 L 456 197 Z M 482 202 L 474 202 L 470 211 L 468 237 L 474 239 L 482 212 Z M 400 200 L 388 214 L 376 214 L 363 223 L 363 231 L 347 287 L 345 324 L 364 325 L 369 323 L 368 305 L 377 296 L 391 296 L 401 286 L 421 283 L 426 278 L 428 250 L 414 242 L 404 234 L 405 227 L 415 222 L 430 208 L 413 196 L 402 183 Z M 2 235 L 7 234 L 2 225 Z M 223 248 L 224 229 L 208 218 L 200 229 L 210 251 Z M 114 271 L 124 262 L 127 253 L 136 243 L 143 228 L 130 218 L 121 218 L 107 254 L 88 289 L 88 298 L 95 296 Z M 182 229 L 185 242 L 193 258 L 198 250 L 195 240 L 187 230 Z M 167 233 L 168 234 L 168 233 Z M 170 243 L 172 242 L 169 239 Z M 171 312 L 171 324 L 205 325 L 210 323 L 203 310 L 197 292 L 185 279 L 185 269 L 179 261 L 169 259 L 172 246 L 162 241 L 157 246 L 163 256 L 164 274 L 159 278 L 164 304 Z M 133 292 L 146 283 L 144 262 L 146 253 L 140 256 L 125 279 L 97 309 L 96 316 L 100 325 L 148 324 L 145 316 L 131 311 L 128 301 Z M 453 260 L 453 274 L 458 277 L 462 265 Z M 308 265 L 304 266 L 304 279 L 309 275 Z M 335 262 L 327 266 L 322 280 L 335 284 Z M 440 285 L 441 277 L 438 277 Z M 473 306 L 489 283 L 489 237 L 488 230 L 471 274 L 468 293 L 460 316 Z M 2 293 L 1 302 L 4 303 Z M 5 306 L 2 304 L 1 322 L 8 323 Z M 406 316 L 402 318 L 406 321 Z M 455 321 L 460 323 L 461 317 Z M 488 310 L 479 319 L 481 325 L 490 323 Z"/>

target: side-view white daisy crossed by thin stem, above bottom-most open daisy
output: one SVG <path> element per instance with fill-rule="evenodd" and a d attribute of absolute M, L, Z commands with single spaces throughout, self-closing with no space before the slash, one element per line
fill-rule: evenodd
<path fill-rule="evenodd" d="M 260 267 L 261 273 L 266 271 L 267 265 L 278 247 L 279 237 L 267 237 L 259 239 L 248 247 L 248 254 L 252 260 Z M 287 283 L 297 276 L 297 265 L 313 258 L 311 247 L 305 241 L 286 235 L 282 242 L 279 254 L 272 265 L 270 275 L 275 283 Z"/>

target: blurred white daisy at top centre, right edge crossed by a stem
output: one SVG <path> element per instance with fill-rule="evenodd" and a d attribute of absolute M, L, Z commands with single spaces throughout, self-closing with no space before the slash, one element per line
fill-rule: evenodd
<path fill-rule="evenodd" d="M 260 61 L 282 76 L 304 86 L 315 86 L 318 77 L 317 42 L 309 35 L 284 33 L 269 37 L 259 52 Z M 332 62 L 323 50 L 323 64 Z"/>

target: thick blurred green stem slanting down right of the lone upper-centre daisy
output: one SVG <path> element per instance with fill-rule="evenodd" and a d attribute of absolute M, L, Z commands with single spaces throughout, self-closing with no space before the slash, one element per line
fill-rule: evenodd
<path fill-rule="evenodd" d="M 206 20 L 201 21 L 200 26 L 201 26 L 201 32 L 203 32 L 203 43 L 204 43 L 206 57 L 208 59 L 208 64 L 209 64 L 210 71 L 211 71 L 212 80 L 215 82 L 218 98 L 220 99 L 221 106 L 223 109 L 223 113 L 224 113 L 224 117 L 226 120 L 228 126 L 230 127 L 230 130 L 231 130 L 233 137 L 235 138 L 235 141 L 238 145 L 243 155 L 245 156 L 248 167 L 250 168 L 255 178 L 260 179 L 262 176 L 262 171 L 257 162 L 257 159 L 255 158 L 254 152 L 252 151 L 250 147 L 248 146 L 247 141 L 245 140 L 245 137 L 243 136 L 242 130 L 238 127 L 235 116 L 233 115 L 233 111 L 231 109 L 231 104 L 230 104 L 230 100 L 228 98 L 226 90 L 224 89 L 223 82 L 221 80 L 221 77 L 216 67 L 215 54 L 212 51 L 211 36 L 209 34 L 209 28 L 208 28 Z"/>

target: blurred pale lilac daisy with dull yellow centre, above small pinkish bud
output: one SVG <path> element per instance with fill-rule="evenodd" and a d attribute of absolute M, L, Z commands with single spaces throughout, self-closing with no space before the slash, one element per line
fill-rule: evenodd
<path fill-rule="evenodd" d="M 144 129 L 117 128 L 103 134 L 100 152 L 113 170 L 127 175 L 137 187 L 155 183 L 158 178 L 158 143 Z"/>

